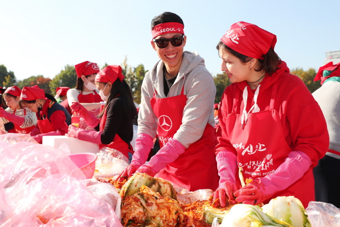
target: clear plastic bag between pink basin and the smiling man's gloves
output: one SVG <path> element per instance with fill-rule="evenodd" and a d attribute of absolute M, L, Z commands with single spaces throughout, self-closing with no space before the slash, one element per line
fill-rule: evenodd
<path fill-rule="evenodd" d="M 103 147 L 97 153 L 94 177 L 112 177 L 119 175 L 129 166 L 129 163 L 129 159 L 121 152 L 109 147 Z"/>

